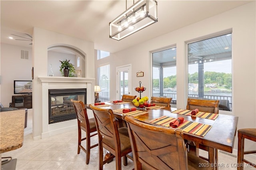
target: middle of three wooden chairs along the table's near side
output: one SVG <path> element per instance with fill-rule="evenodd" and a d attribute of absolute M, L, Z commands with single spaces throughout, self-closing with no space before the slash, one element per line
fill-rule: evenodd
<path fill-rule="evenodd" d="M 98 131 L 99 169 L 103 170 L 103 165 L 116 157 L 116 170 L 121 170 L 121 158 L 123 157 L 123 163 L 126 166 L 128 164 L 126 155 L 132 152 L 127 127 L 118 128 L 118 120 L 112 109 L 98 108 L 91 104 L 89 107 L 94 113 Z M 112 154 L 109 157 L 105 156 L 104 160 L 103 149 Z"/>

